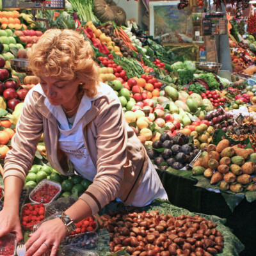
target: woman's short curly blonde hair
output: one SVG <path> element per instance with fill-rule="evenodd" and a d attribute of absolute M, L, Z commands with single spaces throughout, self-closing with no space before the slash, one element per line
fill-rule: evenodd
<path fill-rule="evenodd" d="M 99 85 L 99 65 L 84 36 L 71 29 L 49 29 L 28 51 L 29 69 L 35 76 L 56 76 L 84 81 L 83 93 L 94 97 Z"/>

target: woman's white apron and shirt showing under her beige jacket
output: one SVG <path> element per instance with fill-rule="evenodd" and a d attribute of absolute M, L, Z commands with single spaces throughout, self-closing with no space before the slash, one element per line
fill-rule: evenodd
<path fill-rule="evenodd" d="M 44 95 L 44 92 L 42 92 L 42 89 L 40 90 L 40 88 L 38 88 L 37 91 Z M 97 94 L 97 97 L 93 99 L 99 98 L 109 90 L 112 89 L 107 84 L 100 84 L 100 88 L 98 88 L 99 93 Z M 85 179 L 93 181 L 97 173 L 97 168 L 94 166 L 92 158 L 84 145 L 83 127 L 86 124 L 84 124 L 85 121 L 84 118 L 82 118 L 86 111 L 92 107 L 92 99 L 88 98 L 86 95 L 83 96 L 76 116 L 71 118 L 74 119 L 73 125 L 68 124 L 67 117 L 61 106 L 52 106 L 46 97 L 45 106 L 47 106 L 52 115 L 58 120 L 58 129 L 60 131 L 58 146 L 65 152 L 65 154 L 67 154 L 74 169 Z M 132 205 L 136 207 L 150 204 L 150 202 L 157 197 L 168 200 L 163 184 L 161 183 L 156 170 L 154 170 L 154 166 L 150 159 L 148 159 L 148 162 L 147 171 L 132 202 Z M 116 198 L 116 200 L 120 199 Z"/>

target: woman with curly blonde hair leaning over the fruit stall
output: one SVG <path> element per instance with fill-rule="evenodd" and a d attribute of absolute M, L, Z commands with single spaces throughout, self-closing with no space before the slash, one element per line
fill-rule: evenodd
<path fill-rule="evenodd" d="M 115 92 L 100 83 L 93 50 L 76 31 L 50 29 L 31 47 L 29 68 L 40 80 L 29 91 L 4 163 L 4 208 L 0 236 L 22 239 L 19 196 L 44 132 L 47 159 L 63 175 L 70 161 L 93 183 L 59 218 L 45 221 L 26 243 L 26 255 L 42 255 L 109 201 L 137 207 L 167 199 L 156 170 L 136 134 L 126 125 Z"/>

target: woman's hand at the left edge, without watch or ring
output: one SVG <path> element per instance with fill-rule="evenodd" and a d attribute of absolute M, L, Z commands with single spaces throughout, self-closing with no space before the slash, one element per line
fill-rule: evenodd
<path fill-rule="evenodd" d="M 14 232 L 16 234 L 17 243 L 19 243 L 23 238 L 19 214 L 13 212 L 12 209 L 3 207 L 3 210 L 0 211 L 0 220 L 0 237 Z"/>

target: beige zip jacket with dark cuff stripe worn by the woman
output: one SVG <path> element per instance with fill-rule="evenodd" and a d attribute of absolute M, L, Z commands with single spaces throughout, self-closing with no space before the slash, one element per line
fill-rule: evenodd
<path fill-rule="evenodd" d="M 4 179 L 13 175 L 24 182 L 42 132 L 52 168 L 63 175 L 72 174 L 68 172 L 67 157 L 58 150 L 56 118 L 44 100 L 44 95 L 29 91 L 12 139 L 12 150 L 4 161 Z M 147 169 L 147 151 L 126 124 L 115 92 L 93 100 L 84 118 L 84 145 L 97 167 L 97 175 L 80 198 L 90 205 L 93 214 L 116 196 L 129 205 Z"/>

